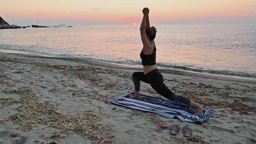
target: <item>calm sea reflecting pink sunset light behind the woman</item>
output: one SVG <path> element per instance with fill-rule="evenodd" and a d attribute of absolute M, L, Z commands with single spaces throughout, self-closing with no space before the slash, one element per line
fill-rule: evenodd
<path fill-rule="evenodd" d="M 256 78 L 256 25 L 157 25 L 159 68 Z M 141 66 L 139 26 L 0 29 L 0 49 Z"/>

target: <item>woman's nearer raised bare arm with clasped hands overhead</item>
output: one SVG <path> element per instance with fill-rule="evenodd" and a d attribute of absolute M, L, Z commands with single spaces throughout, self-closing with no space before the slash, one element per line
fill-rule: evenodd
<path fill-rule="evenodd" d="M 146 34 L 146 21 L 147 21 L 147 17 L 148 17 L 148 8 L 144 8 L 142 10 L 143 12 L 143 18 L 141 21 L 141 27 L 140 27 L 140 31 L 141 31 L 141 41 L 143 43 L 144 47 L 150 47 L 150 42 L 147 38 L 147 34 Z M 149 24 L 149 21 L 148 21 Z"/>

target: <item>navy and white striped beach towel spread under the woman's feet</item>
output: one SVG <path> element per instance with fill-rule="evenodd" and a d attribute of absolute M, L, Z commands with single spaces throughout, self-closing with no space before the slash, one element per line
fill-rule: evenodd
<path fill-rule="evenodd" d="M 128 108 L 134 108 L 141 111 L 153 112 L 167 118 L 179 118 L 181 121 L 191 123 L 205 123 L 213 114 L 211 108 L 203 106 L 205 111 L 199 115 L 194 114 L 194 108 L 189 105 L 177 101 L 155 98 L 148 95 L 140 94 L 141 99 L 130 98 L 134 92 L 127 92 L 106 102 L 111 102 L 115 105 L 121 105 Z"/>

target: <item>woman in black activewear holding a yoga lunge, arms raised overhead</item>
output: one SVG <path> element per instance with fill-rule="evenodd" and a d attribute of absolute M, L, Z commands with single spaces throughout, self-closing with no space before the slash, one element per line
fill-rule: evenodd
<path fill-rule="evenodd" d="M 194 101 L 191 101 L 185 96 L 174 94 L 174 92 L 171 92 L 171 90 L 164 84 L 164 77 L 156 66 L 156 46 L 154 43 L 154 38 L 157 31 L 154 26 L 150 27 L 148 18 L 149 9 L 144 8 L 142 13 L 143 19 L 141 22 L 140 31 L 143 49 L 141 50 L 140 57 L 144 72 L 134 72 L 132 74 L 132 79 L 135 85 L 135 95 L 131 98 L 140 99 L 140 81 L 142 81 L 150 84 L 156 92 L 165 98 L 171 101 L 179 101 L 190 105 L 195 109 L 194 115 L 199 115 L 204 110 L 202 106 L 198 105 Z"/>

